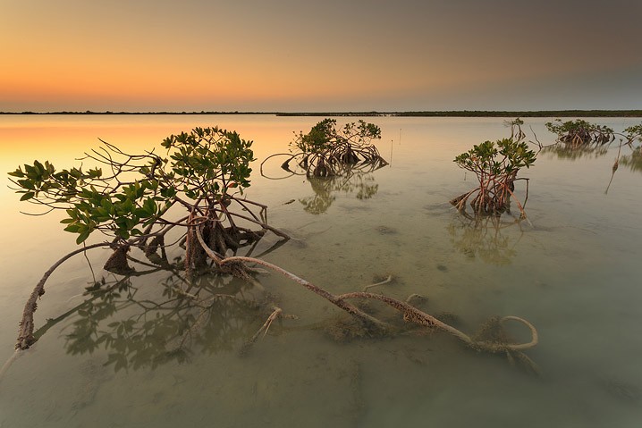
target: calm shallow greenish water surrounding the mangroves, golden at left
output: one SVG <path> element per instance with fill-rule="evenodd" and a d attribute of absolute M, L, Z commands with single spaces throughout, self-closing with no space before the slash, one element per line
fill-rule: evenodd
<path fill-rule="evenodd" d="M 474 180 L 452 159 L 473 144 L 505 137 L 502 120 L 366 119 L 382 127 L 376 145 L 392 162 L 348 185 L 267 180 L 255 164 L 248 197 L 268 205 L 270 223 L 296 237 L 264 258 L 336 294 L 393 275 L 393 282 L 374 290 L 401 299 L 427 296 L 427 312 L 457 315 L 457 327 L 469 333 L 492 315 L 526 318 L 540 335 L 526 352 L 540 366 L 540 377 L 443 333 L 334 340 L 328 331 L 339 311 L 275 274 L 259 277 L 262 288 L 208 280 L 210 289 L 242 289 L 245 297 L 273 301 L 297 316 L 273 323 L 241 353 L 243 340 L 268 313 L 225 299 L 212 316 L 178 304 L 155 306 L 173 282 L 168 273 L 153 273 L 134 278 L 118 297 L 80 307 L 13 362 L 0 380 L 0 427 L 638 426 L 640 172 L 621 166 L 605 194 L 616 147 L 577 159 L 542 153 L 522 172 L 530 178 L 531 224 L 504 215 L 499 230 L 475 228 L 447 203 Z M 171 133 L 213 124 L 254 139 L 260 162 L 286 151 L 292 131 L 318 120 L 0 116 L 0 171 L 34 158 L 71 166 L 72 157 L 98 146 L 97 138 L 134 152 L 157 147 Z M 543 143 L 553 142 L 546 120 L 526 122 Z M 616 130 L 637 123 L 594 122 Z M 267 164 L 266 174 L 283 177 L 279 164 Z M 13 354 L 16 323 L 31 289 L 75 245 L 55 214 L 19 214 L 26 207 L 5 186 L 0 200 L 10 225 L 0 248 L 4 361 Z M 266 236 L 256 254 L 275 240 Z M 106 256 L 100 250 L 89 255 L 97 278 L 105 275 L 100 266 Z M 47 282 L 37 328 L 81 305 L 91 282 L 82 256 L 63 264 Z M 134 320 L 131 330 L 123 327 L 119 335 L 116 323 L 128 319 Z M 520 327 L 511 333 L 528 340 Z M 111 339 L 97 344 L 101 335 Z M 188 337 L 185 354 L 165 355 L 172 336 L 170 344 Z"/>

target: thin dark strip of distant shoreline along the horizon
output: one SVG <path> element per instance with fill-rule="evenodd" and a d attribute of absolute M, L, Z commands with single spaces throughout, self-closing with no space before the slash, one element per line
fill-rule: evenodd
<path fill-rule="evenodd" d="M 538 110 L 538 111 L 485 111 L 449 110 L 417 112 L 0 112 L 0 114 L 35 115 L 220 115 L 264 114 L 275 116 L 393 116 L 393 117 L 642 117 L 642 110 Z"/>

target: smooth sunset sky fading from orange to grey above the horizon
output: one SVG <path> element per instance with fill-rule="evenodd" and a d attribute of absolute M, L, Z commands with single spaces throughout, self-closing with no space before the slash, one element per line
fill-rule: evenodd
<path fill-rule="evenodd" d="M 639 0 L 0 0 L 0 111 L 642 108 Z"/>

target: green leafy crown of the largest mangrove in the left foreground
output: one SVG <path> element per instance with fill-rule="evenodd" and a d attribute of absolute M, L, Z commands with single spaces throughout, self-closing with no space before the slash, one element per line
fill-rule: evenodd
<path fill-rule="evenodd" d="M 196 128 L 172 135 L 162 143 L 168 158 L 127 155 L 105 144 L 84 159 L 106 165 L 109 176 L 99 167 L 56 171 L 48 161 L 9 172 L 22 201 L 66 212 L 64 230 L 77 233 L 78 244 L 94 231 L 116 239 L 143 235 L 177 197 L 214 203 L 249 186 L 252 142 L 236 132 Z"/>

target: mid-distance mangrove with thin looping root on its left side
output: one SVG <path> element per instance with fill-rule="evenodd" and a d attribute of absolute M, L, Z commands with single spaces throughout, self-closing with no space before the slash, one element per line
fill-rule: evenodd
<path fill-rule="evenodd" d="M 372 170 L 388 164 L 371 144 L 373 139 L 381 138 L 381 129 L 373 123 L 351 122 L 337 130 L 335 119 L 324 119 L 307 134 L 300 131 L 294 135 L 290 153 L 268 156 L 261 168 L 274 156 L 286 156 L 283 170 L 293 172 L 291 163 L 295 163 L 308 177 L 341 175 L 346 166 Z"/>

